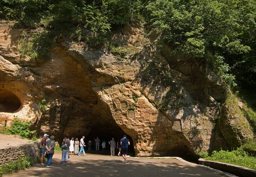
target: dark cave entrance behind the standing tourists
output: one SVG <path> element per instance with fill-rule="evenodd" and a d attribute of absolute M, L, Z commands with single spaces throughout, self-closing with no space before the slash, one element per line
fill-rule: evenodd
<path fill-rule="evenodd" d="M 135 155 L 134 147 L 133 147 L 133 141 L 132 137 L 124 133 L 124 131 L 114 122 L 114 121 L 108 121 L 108 122 L 102 122 L 93 124 L 91 127 L 90 133 L 85 136 L 85 143 L 86 143 L 86 150 L 88 150 L 88 141 L 92 141 L 92 148 L 93 144 L 95 144 L 94 139 L 98 136 L 100 139 L 100 150 L 102 150 L 101 143 L 105 140 L 106 141 L 106 149 L 107 149 L 107 155 L 110 155 L 110 145 L 108 145 L 108 141 L 111 141 L 112 138 L 115 138 L 115 141 L 120 143 L 120 140 L 123 138 L 124 135 L 127 136 L 127 138 L 130 141 L 130 145 L 128 146 L 128 153 L 130 156 Z M 96 151 L 87 151 L 89 153 L 96 153 Z M 101 152 L 100 152 L 101 153 Z M 115 155 L 117 155 L 118 152 L 115 152 Z"/>

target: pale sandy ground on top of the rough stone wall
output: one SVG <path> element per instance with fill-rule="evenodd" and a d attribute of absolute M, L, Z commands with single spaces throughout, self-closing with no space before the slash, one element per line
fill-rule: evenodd
<path fill-rule="evenodd" d="M 20 146 L 22 144 L 27 144 L 29 142 L 32 142 L 32 140 L 21 139 L 19 135 L 0 134 L 0 149 L 6 149 L 11 146 Z"/>

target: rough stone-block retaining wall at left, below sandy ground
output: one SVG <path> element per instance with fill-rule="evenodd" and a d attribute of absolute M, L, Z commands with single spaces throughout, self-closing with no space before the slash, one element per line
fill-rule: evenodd
<path fill-rule="evenodd" d="M 0 150 L 0 165 L 17 160 L 18 157 L 28 156 L 33 162 L 40 158 L 38 142 L 31 142 L 20 146 L 11 146 Z"/>

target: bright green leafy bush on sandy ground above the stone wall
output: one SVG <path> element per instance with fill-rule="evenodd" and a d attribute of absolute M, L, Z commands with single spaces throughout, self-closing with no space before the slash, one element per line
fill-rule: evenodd
<path fill-rule="evenodd" d="M 36 130 L 30 131 L 29 128 L 31 123 L 26 121 L 21 121 L 17 116 L 14 116 L 15 121 L 12 121 L 10 132 L 12 135 L 20 135 L 22 138 L 27 138 L 31 134 L 34 134 Z"/>

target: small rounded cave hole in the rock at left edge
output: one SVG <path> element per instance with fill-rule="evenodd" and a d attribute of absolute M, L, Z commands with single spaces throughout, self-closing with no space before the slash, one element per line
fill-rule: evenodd
<path fill-rule="evenodd" d="M 0 88 L 0 112 L 13 113 L 21 106 L 20 99 L 11 91 Z"/>

